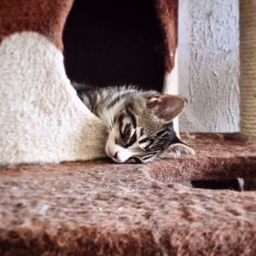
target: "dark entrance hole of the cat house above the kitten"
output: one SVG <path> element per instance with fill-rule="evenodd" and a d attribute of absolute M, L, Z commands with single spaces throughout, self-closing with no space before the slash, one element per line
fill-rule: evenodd
<path fill-rule="evenodd" d="M 153 0 L 76 0 L 63 33 L 67 77 L 163 89 L 164 39 Z"/>

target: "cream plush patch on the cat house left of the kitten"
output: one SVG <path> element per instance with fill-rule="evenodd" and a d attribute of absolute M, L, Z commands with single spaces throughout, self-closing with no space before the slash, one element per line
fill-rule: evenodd
<path fill-rule="evenodd" d="M 0 63 L 0 165 L 105 155 L 106 127 L 79 100 L 48 38 L 12 34 L 0 44 Z"/>

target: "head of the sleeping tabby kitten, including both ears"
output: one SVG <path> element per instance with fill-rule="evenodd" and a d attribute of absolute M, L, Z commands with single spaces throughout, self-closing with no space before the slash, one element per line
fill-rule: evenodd
<path fill-rule="evenodd" d="M 192 153 L 173 130 L 172 120 L 187 106 L 182 96 L 160 95 L 148 91 L 124 102 L 113 119 L 106 153 L 115 162 L 149 162 L 166 148 Z"/>

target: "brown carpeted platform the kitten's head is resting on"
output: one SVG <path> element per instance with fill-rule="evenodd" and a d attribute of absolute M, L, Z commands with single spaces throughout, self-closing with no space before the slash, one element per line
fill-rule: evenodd
<path fill-rule="evenodd" d="M 256 141 L 189 134 L 194 157 L 0 169 L 0 255 L 256 255 L 256 192 L 176 181 L 256 177 Z"/>

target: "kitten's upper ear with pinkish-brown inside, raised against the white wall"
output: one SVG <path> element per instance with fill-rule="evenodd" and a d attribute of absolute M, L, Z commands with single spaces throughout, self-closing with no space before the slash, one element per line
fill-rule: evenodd
<path fill-rule="evenodd" d="M 185 98 L 168 94 L 153 97 L 147 102 L 147 108 L 152 109 L 157 117 L 166 122 L 171 122 L 172 119 L 183 113 L 186 106 Z"/>

